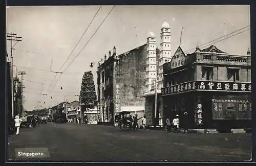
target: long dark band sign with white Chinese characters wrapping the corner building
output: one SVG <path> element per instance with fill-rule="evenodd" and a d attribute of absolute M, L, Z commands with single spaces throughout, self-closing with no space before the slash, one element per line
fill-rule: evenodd
<path fill-rule="evenodd" d="M 162 95 L 177 94 L 191 90 L 251 92 L 249 82 L 191 81 L 162 88 Z"/>

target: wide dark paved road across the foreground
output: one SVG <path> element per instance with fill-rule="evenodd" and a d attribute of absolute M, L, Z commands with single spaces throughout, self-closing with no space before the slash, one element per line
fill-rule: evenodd
<path fill-rule="evenodd" d="M 251 157 L 251 134 L 121 131 L 48 123 L 9 136 L 11 160 L 17 160 L 15 148 L 48 148 L 50 158 L 44 159 L 48 161 L 245 161 Z"/>

